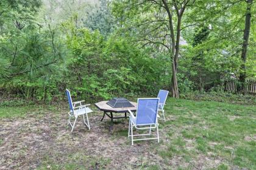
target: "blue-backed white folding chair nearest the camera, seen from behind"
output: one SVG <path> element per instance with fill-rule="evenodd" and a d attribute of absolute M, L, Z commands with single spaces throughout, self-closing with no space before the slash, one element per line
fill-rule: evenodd
<path fill-rule="evenodd" d="M 128 110 L 130 113 L 128 137 L 132 137 L 132 145 L 133 145 L 133 141 L 137 141 L 137 140 L 157 139 L 159 143 L 159 133 L 158 133 L 158 123 L 157 123 L 158 104 L 159 104 L 159 98 L 138 98 L 136 117 L 132 114 L 130 110 Z M 149 129 L 149 133 L 134 135 L 133 127 L 135 127 L 135 129 L 138 129 L 138 130 Z M 151 135 L 151 129 L 154 129 L 154 128 L 157 129 L 157 137 L 133 139 L 133 137 L 135 136 Z"/>

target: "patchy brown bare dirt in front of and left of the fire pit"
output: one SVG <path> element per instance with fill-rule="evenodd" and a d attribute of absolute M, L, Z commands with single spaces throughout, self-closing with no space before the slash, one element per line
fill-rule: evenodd
<path fill-rule="evenodd" d="M 63 111 L 0 120 L 0 169 L 34 169 L 42 165 L 51 169 L 48 162 L 62 165 L 73 158 L 88 169 L 133 169 L 143 163 L 162 164 L 162 158 L 151 149 L 157 141 L 130 145 L 128 120 L 114 123 L 113 131 L 109 131 L 110 119 L 100 121 L 101 113 L 93 112 L 89 115 L 91 130 L 80 117 L 74 132 L 67 120 Z M 85 158 L 77 161 L 77 157 Z"/>

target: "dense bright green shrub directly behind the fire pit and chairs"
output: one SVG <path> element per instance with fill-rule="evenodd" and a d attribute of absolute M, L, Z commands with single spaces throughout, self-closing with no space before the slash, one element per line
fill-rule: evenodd
<path fill-rule="evenodd" d="M 75 29 L 69 24 L 63 27 Z M 169 86 L 169 59 L 165 55 L 152 57 L 127 38 L 113 35 L 104 40 L 98 31 L 77 29 L 67 35 L 67 44 L 71 55 L 66 86 L 79 97 L 96 100 L 155 95 L 158 89 Z"/>

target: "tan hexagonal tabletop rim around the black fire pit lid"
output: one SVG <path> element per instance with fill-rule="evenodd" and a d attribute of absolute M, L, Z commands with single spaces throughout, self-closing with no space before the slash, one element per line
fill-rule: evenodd
<path fill-rule="evenodd" d="M 96 107 L 98 107 L 99 110 L 102 110 L 104 112 L 114 112 L 114 113 L 124 113 L 128 112 L 128 109 L 130 109 L 132 112 L 135 112 L 137 110 L 137 103 L 130 101 L 134 107 L 111 107 L 107 104 L 108 101 L 100 101 L 98 103 L 94 103 Z"/>

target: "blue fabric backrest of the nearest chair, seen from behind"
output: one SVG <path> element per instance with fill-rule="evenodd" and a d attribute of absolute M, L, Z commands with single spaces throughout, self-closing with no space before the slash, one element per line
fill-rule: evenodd
<path fill-rule="evenodd" d="M 136 124 L 157 123 L 159 98 L 138 98 Z"/>

